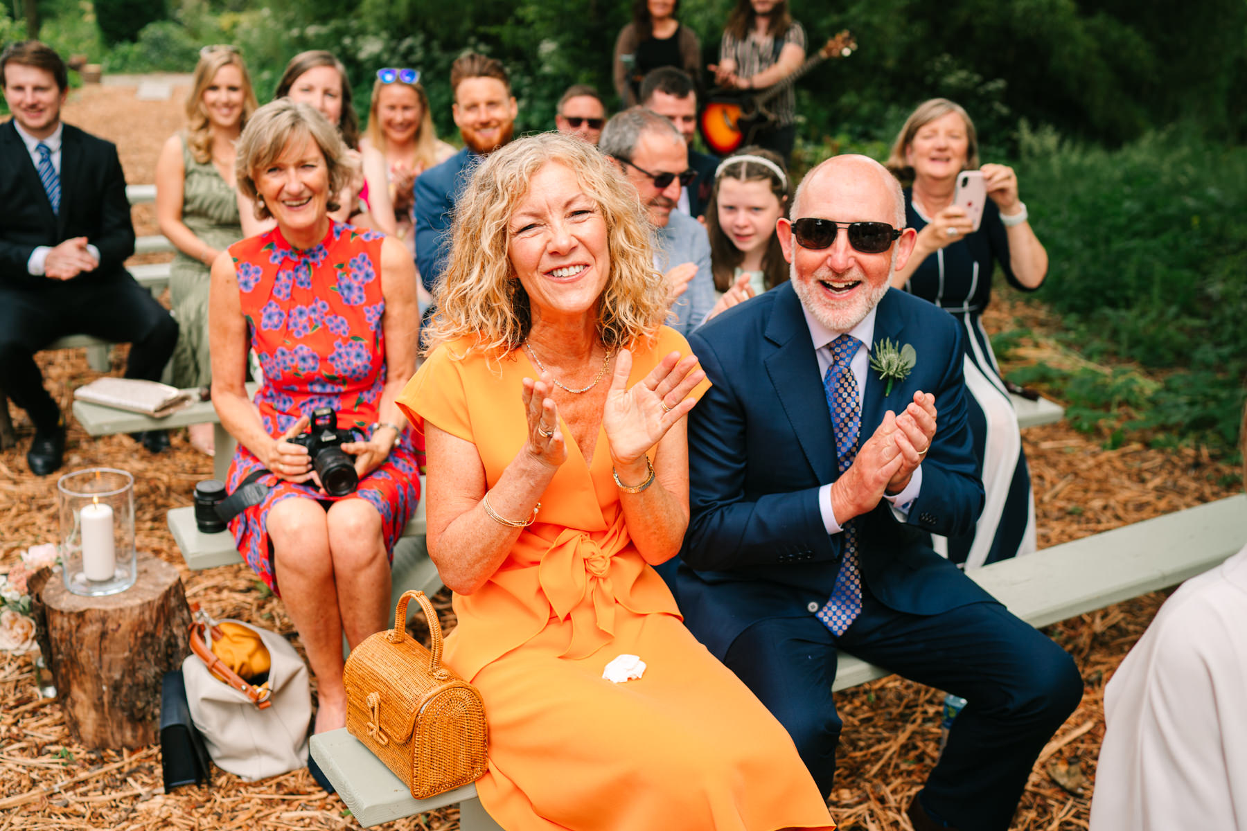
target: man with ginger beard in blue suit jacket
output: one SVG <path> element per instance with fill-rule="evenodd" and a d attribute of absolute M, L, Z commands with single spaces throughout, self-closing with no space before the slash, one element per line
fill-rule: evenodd
<path fill-rule="evenodd" d="M 415 179 L 415 264 L 433 285 L 450 252 L 450 219 L 476 164 L 511 141 L 519 107 L 501 61 L 468 52 L 450 66 L 453 113 L 464 148 Z"/>

